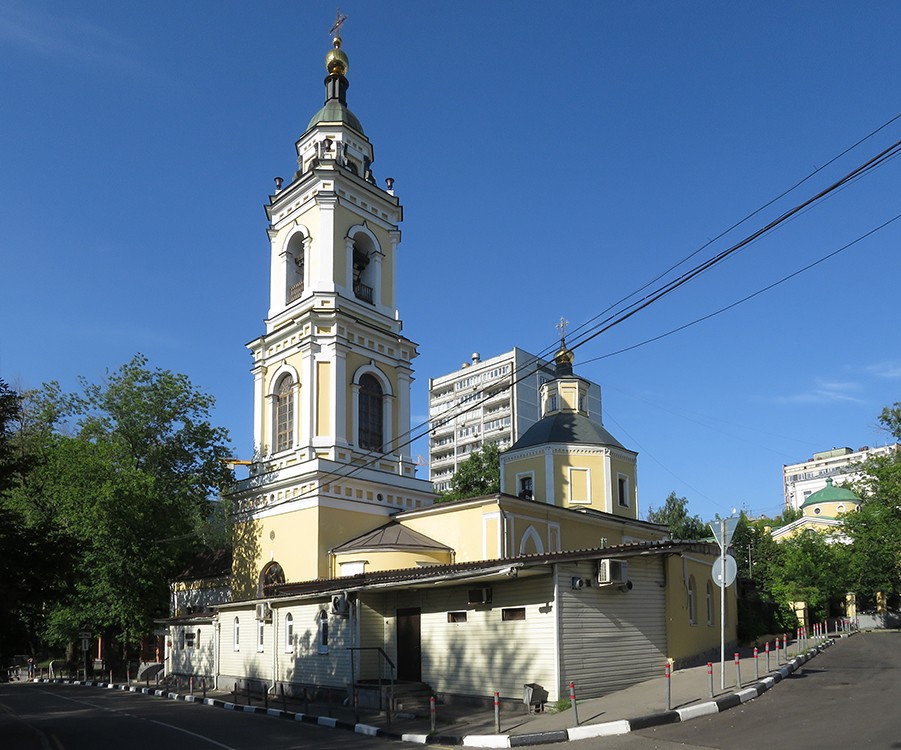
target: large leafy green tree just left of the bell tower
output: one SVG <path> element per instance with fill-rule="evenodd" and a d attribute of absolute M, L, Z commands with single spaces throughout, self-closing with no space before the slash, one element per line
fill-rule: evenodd
<path fill-rule="evenodd" d="M 35 627 L 51 643 L 87 628 L 127 646 L 166 613 L 168 581 L 207 541 L 231 481 L 228 437 L 211 396 L 143 356 L 81 386 L 30 394 L 20 439 L 35 465 L 5 505 L 71 553 Z"/>

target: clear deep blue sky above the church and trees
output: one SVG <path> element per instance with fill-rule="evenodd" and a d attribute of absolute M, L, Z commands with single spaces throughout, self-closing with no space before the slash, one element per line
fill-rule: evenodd
<path fill-rule="evenodd" d="M 901 139 L 901 5 L 349 2 L 351 109 L 405 206 L 400 313 L 429 377 L 554 343 L 805 177 L 714 255 Z M 252 452 L 262 205 L 322 104 L 326 2 L 0 0 L 0 377 L 136 352 Z M 815 174 L 814 172 L 817 171 Z M 643 508 L 777 513 L 781 467 L 884 444 L 901 400 L 889 161 L 576 352 Z M 812 176 L 811 176 L 812 175 Z M 426 454 L 419 443 L 414 454 Z"/>

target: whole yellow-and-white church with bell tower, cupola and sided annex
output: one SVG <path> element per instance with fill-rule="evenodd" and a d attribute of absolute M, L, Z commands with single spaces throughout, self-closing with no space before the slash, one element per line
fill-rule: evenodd
<path fill-rule="evenodd" d="M 706 660 L 718 550 L 639 520 L 637 453 L 589 419 L 563 337 L 541 419 L 501 456 L 500 493 L 436 502 L 417 478 L 403 209 L 373 175 L 337 35 L 326 72 L 297 170 L 266 206 L 269 310 L 248 344 L 256 455 L 227 498 L 230 568 L 172 584 L 166 671 L 384 706 L 385 684 L 517 702 L 537 684 L 553 702 L 570 682 L 591 697 Z"/>

